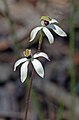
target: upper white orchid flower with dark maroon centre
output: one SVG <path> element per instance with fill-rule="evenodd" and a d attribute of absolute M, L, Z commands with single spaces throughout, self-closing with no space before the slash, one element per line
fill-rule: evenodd
<path fill-rule="evenodd" d="M 62 37 L 67 36 L 67 34 L 58 25 L 55 24 L 55 23 L 58 23 L 57 20 L 51 19 L 48 16 L 42 16 L 40 20 L 41 20 L 41 26 L 36 27 L 31 31 L 30 42 L 35 39 L 37 33 L 40 30 L 44 32 L 50 44 L 54 42 L 54 36 L 50 32 L 50 29 L 52 29 L 59 36 L 62 36 Z"/>

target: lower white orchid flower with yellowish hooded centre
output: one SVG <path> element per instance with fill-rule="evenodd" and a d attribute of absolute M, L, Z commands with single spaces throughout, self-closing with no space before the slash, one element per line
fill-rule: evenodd
<path fill-rule="evenodd" d="M 44 77 L 44 68 L 41 64 L 41 62 L 37 59 L 38 57 L 44 57 L 47 60 L 49 60 L 48 55 L 44 52 L 38 52 L 35 53 L 32 56 L 31 50 L 26 49 L 24 51 L 24 58 L 19 59 L 18 61 L 15 62 L 14 64 L 14 71 L 16 70 L 17 66 L 19 66 L 20 64 L 22 64 L 21 66 L 21 81 L 24 82 L 25 79 L 27 78 L 27 73 L 28 73 L 28 64 L 31 62 L 36 73 L 40 76 L 40 77 Z"/>

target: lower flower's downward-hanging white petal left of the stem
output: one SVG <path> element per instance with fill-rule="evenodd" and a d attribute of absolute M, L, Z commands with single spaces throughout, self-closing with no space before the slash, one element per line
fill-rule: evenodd
<path fill-rule="evenodd" d="M 29 61 L 26 61 L 21 66 L 21 82 L 23 83 L 25 79 L 27 78 L 27 71 L 28 71 L 28 64 Z"/>

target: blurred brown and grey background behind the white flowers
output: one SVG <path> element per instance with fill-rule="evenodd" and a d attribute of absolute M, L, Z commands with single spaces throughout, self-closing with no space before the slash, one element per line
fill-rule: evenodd
<path fill-rule="evenodd" d="M 67 33 L 50 45 L 44 37 L 42 51 L 51 62 L 41 59 L 45 78 L 35 75 L 28 120 L 79 120 L 79 0 L 0 0 L 0 120 L 23 120 L 29 78 L 20 81 L 20 67 L 14 63 L 29 43 L 31 30 L 42 15 L 59 22 Z M 29 70 L 29 76 L 32 69 Z"/>

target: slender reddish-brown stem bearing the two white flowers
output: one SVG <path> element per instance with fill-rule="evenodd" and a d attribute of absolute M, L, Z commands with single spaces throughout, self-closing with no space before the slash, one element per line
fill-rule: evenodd
<path fill-rule="evenodd" d="M 42 33 L 41 33 L 40 38 L 39 38 L 38 51 L 40 51 L 40 49 L 41 49 L 41 44 L 42 44 Z M 34 73 L 35 72 L 34 72 L 34 69 L 33 69 L 32 75 L 31 75 L 31 78 L 30 78 L 30 85 L 29 85 L 29 88 L 28 88 L 27 96 L 26 96 L 26 110 L 25 110 L 25 119 L 24 120 L 27 120 L 27 114 L 28 114 L 28 110 L 29 110 L 29 99 L 30 99 L 30 93 L 31 93 Z"/>

